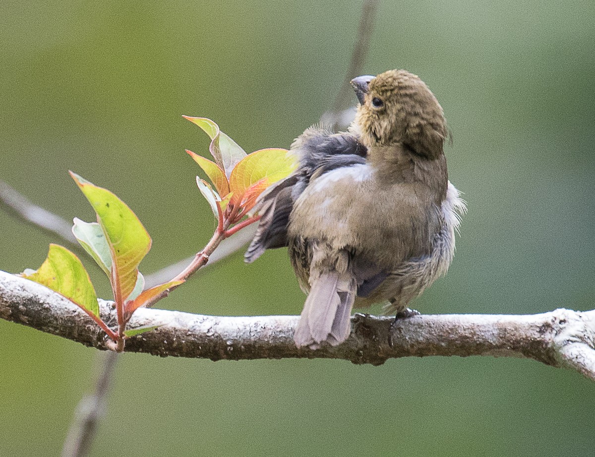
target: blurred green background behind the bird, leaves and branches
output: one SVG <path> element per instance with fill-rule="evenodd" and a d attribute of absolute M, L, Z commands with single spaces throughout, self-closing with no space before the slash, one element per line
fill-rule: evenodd
<path fill-rule="evenodd" d="M 449 275 L 415 302 L 422 313 L 594 307 L 594 5 L 381 3 L 364 73 L 406 68 L 428 83 L 469 204 Z M 214 119 L 248 152 L 289 147 L 333 102 L 360 11 L 327 0 L 4 1 L 0 179 L 92 220 L 72 169 L 139 215 L 154 240 L 143 272 L 183 259 L 214 221 L 184 153 L 206 153 L 208 138 L 181 115 Z M 60 242 L 5 212 L 0 228 L 9 272 L 39 266 Z M 238 253 L 159 305 L 298 314 L 303 300 L 278 250 L 249 266 Z M 60 453 L 98 355 L 0 321 L 0 455 Z M 594 412 L 592 382 L 528 360 L 126 354 L 92 455 L 587 456 Z"/>

